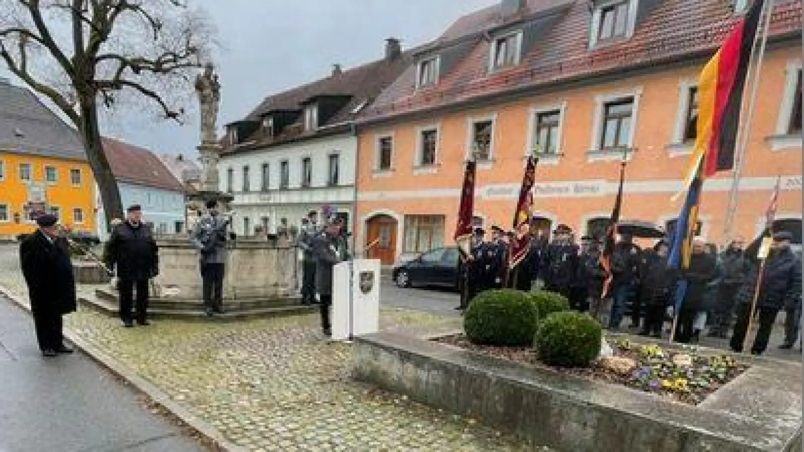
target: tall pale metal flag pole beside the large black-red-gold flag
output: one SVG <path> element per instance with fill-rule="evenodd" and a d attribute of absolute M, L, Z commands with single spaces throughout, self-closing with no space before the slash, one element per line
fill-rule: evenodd
<path fill-rule="evenodd" d="M 734 177 L 732 178 L 732 188 L 728 195 L 728 207 L 726 210 L 726 221 L 724 223 L 724 238 L 726 242 L 731 242 L 734 235 L 734 218 L 737 213 L 737 205 L 740 197 L 740 178 L 743 173 L 743 165 L 745 163 L 745 152 L 748 149 L 749 139 L 751 137 L 751 124 L 753 122 L 754 109 L 757 105 L 757 92 L 759 88 L 759 79 L 762 71 L 762 63 L 765 59 L 765 45 L 768 42 L 768 35 L 770 31 L 770 18 L 773 15 L 773 0 L 765 2 L 765 22 L 762 26 L 762 35 L 759 39 L 759 51 L 757 52 L 757 63 L 754 65 L 754 76 L 751 78 L 751 96 L 749 97 L 748 109 L 743 120 L 743 127 L 738 131 L 740 140 L 738 141 L 738 151 L 734 162 Z M 754 47 L 757 47 L 756 38 Z M 751 59 L 749 65 L 752 63 L 754 52 L 751 52 Z M 742 115 L 740 115 L 742 117 Z"/>

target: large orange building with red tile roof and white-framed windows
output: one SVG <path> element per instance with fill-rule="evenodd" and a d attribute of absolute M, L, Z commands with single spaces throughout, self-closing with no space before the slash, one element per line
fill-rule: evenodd
<path fill-rule="evenodd" d="M 735 230 L 756 234 L 781 176 L 777 218 L 801 242 L 802 2 L 776 5 Z M 460 18 L 359 125 L 358 250 L 380 238 L 369 255 L 387 264 L 453 242 L 473 151 L 476 221 L 486 227 L 511 228 L 535 149 L 545 229 L 560 222 L 601 235 L 623 156 L 623 218 L 671 229 L 695 138 L 697 76 L 736 14 L 720 0 L 504 0 Z M 724 239 L 732 181 L 720 173 L 704 186 L 699 227 L 712 242 Z"/>

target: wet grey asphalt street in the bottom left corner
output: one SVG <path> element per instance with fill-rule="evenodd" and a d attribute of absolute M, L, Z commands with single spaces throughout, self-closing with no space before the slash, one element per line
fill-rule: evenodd
<path fill-rule="evenodd" d="M 0 296 L 2 452 L 195 452 L 178 427 L 81 353 L 43 359 L 27 312 Z"/>

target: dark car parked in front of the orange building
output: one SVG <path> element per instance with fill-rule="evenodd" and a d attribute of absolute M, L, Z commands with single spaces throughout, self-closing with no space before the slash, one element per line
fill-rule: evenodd
<path fill-rule="evenodd" d="M 458 251 L 455 246 L 436 248 L 394 266 L 392 277 L 399 287 L 440 286 L 458 289 Z"/>

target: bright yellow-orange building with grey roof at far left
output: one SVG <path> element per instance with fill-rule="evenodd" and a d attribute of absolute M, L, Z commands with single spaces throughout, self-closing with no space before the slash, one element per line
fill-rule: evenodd
<path fill-rule="evenodd" d="M 95 181 L 76 131 L 27 90 L 0 79 L 0 237 L 35 229 L 32 210 L 94 232 Z"/>

